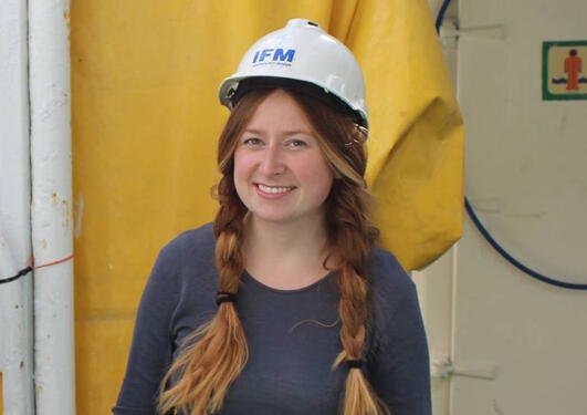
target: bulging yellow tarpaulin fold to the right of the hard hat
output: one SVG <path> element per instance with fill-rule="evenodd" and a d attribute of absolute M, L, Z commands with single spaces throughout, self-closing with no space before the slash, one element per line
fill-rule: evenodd
<path fill-rule="evenodd" d="M 359 1 L 350 24 L 370 110 L 375 222 L 381 245 L 419 269 L 462 234 L 459 106 L 426 1 Z"/>

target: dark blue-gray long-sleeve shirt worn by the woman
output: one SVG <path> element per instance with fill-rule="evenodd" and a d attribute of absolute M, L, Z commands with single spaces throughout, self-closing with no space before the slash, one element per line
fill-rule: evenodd
<path fill-rule="evenodd" d="M 430 415 L 429 357 L 415 284 L 389 252 L 369 267 L 365 343 L 369 382 L 394 415 Z M 337 414 L 348 369 L 342 350 L 337 274 L 276 290 L 243 273 L 234 305 L 250 356 L 218 414 Z M 210 225 L 184 232 L 159 253 L 137 312 L 114 414 L 155 414 L 159 383 L 186 336 L 217 310 Z"/>

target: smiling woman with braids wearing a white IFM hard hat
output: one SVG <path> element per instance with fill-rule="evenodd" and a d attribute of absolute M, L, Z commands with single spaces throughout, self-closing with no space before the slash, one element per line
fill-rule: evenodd
<path fill-rule="evenodd" d="M 291 20 L 220 100 L 220 209 L 159 253 L 114 413 L 430 414 L 415 286 L 374 247 L 352 53 Z"/>

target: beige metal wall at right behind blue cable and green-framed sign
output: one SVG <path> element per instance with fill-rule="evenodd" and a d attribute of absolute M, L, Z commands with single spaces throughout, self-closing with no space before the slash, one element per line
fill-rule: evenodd
<path fill-rule="evenodd" d="M 523 263 L 584 284 L 587 101 L 543 100 L 542 48 L 587 40 L 585 15 L 580 0 L 461 0 L 443 39 L 457 62 L 473 208 Z M 417 276 L 434 414 L 586 413 L 586 291 L 530 278 L 464 225 L 458 246 Z"/>

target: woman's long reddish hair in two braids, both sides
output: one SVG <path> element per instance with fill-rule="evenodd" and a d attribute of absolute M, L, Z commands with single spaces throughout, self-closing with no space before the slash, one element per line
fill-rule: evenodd
<path fill-rule="evenodd" d="M 266 89 L 248 92 L 232 111 L 220 135 L 218 167 L 222 178 L 216 190 L 220 208 L 213 224 L 220 292 L 237 293 L 244 269 L 241 247 L 247 208 L 234 187 L 234 151 L 244 127 L 271 92 Z M 343 350 L 333 362 L 335 369 L 345 361 L 363 359 L 366 336 L 368 257 L 378 231 L 367 215 L 365 136 L 350 116 L 316 97 L 286 92 L 312 123 L 336 177 L 325 201 L 327 263 L 338 274 L 338 314 L 343 323 Z M 158 408 L 163 413 L 172 408 L 191 415 L 214 413 L 222 406 L 230 384 L 242 372 L 249 355 L 244 330 L 233 303 L 220 303 L 217 314 L 198 328 L 186 344 L 188 346 L 161 382 Z M 171 377 L 177 382 L 166 390 Z M 388 413 L 359 369 L 348 371 L 340 409 L 344 415 Z"/>

